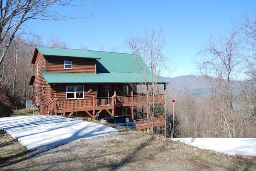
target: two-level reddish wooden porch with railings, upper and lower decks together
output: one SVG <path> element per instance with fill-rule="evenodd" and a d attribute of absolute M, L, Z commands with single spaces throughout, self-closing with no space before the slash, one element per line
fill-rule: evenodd
<path fill-rule="evenodd" d="M 153 100 L 154 99 L 154 100 Z M 116 107 L 131 107 L 132 118 L 134 118 L 134 106 L 146 105 L 149 103 L 164 103 L 164 95 L 158 94 L 150 96 L 146 95 L 130 95 L 130 96 L 112 96 L 107 97 L 92 97 L 86 99 L 65 99 L 58 100 L 57 98 L 51 99 L 48 103 L 42 105 L 40 112 L 41 115 L 64 115 L 72 116 L 77 112 L 82 112 L 89 115 L 93 119 L 97 118 L 97 113 L 106 110 L 109 115 L 115 116 Z M 151 127 L 150 119 L 136 119 L 136 128 L 147 131 Z M 165 130 L 165 117 L 154 117 L 154 127 L 160 125 Z M 152 130 L 150 130 L 152 131 Z"/>

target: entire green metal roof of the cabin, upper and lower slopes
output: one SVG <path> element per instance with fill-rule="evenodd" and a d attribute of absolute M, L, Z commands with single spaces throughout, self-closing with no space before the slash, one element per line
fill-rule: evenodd
<path fill-rule="evenodd" d="M 146 67 L 140 55 L 36 46 L 32 63 L 35 62 L 38 52 L 43 56 L 90 58 L 96 60 L 96 74 L 42 72 L 42 76 L 48 84 L 144 83 L 145 78 L 148 83 L 152 82 L 150 70 Z M 169 83 L 162 78 L 156 77 L 154 79 L 154 82 Z"/>

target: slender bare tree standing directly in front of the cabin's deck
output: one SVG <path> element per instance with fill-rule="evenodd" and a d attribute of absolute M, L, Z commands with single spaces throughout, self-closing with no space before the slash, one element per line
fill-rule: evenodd
<path fill-rule="evenodd" d="M 146 105 L 149 111 L 148 117 L 151 122 L 151 130 L 153 130 L 154 116 L 157 114 L 155 101 L 161 84 L 160 76 L 164 71 L 171 68 L 167 66 L 171 56 L 168 55 L 166 50 L 167 40 L 163 33 L 162 24 L 153 24 L 151 29 L 144 28 L 143 31 L 142 34 L 136 36 L 130 35 L 127 40 L 127 46 L 134 54 L 134 58 L 140 65 L 140 70 L 144 77 L 144 81 L 140 84 L 144 85 L 143 89 L 147 96 Z M 137 54 L 140 54 L 143 62 L 137 58 Z"/>

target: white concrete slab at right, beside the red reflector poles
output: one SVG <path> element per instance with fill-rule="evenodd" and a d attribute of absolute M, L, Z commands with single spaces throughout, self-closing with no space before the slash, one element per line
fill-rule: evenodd
<path fill-rule="evenodd" d="M 256 138 L 172 138 L 172 140 L 230 155 L 256 156 Z"/>

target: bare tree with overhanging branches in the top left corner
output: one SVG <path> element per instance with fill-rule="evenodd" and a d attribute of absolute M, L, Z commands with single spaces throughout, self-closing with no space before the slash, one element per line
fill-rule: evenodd
<path fill-rule="evenodd" d="M 94 6 L 100 5 L 92 1 L 74 0 L 6 0 L 0 1 L 0 44 L 4 44 L 4 49 L 0 54 L 0 66 L 7 50 L 19 34 L 31 34 L 25 32 L 21 26 L 28 26 L 30 20 L 64 20 L 86 18 L 93 14 L 80 14 L 72 16 L 60 15 L 60 12 L 52 10 L 54 6 Z M 10 36 L 8 36 L 10 35 Z M 7 40 L 7 41 L 6 41 Z"/>

